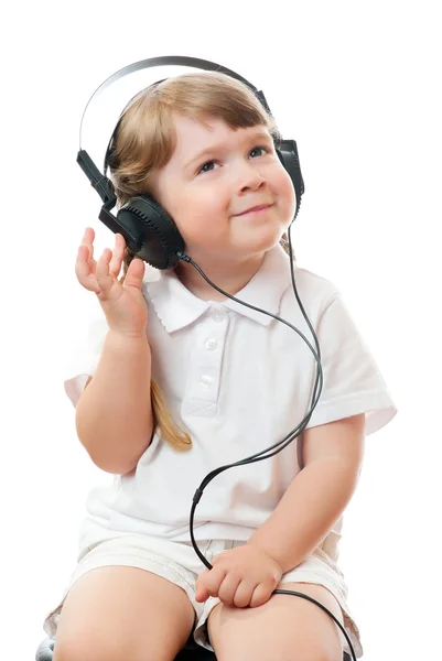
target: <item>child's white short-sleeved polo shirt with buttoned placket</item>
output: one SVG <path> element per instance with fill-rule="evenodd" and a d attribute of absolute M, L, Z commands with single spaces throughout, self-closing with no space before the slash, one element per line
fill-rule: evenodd
<path fill-rule="evenodd" d="M 379 369 L 336 286 L 297 266 L 294 274 L 317 335 L 324 378 L 308 426 L 365 413 L 366 434 L 373 434 L 397 412 Z M 190 541 L 192 499 L 204 477 L 272 446 L 311 407 L 316 362 L 298 333 L 229 299 L 197 299 L 174 272 L 147 268 L 143 293 L 152 376 L 193 446 L 176 452 L 157 430 L 134 472 L 109 476 L 109 486 L 91 489 L 80 553 L 101 539 L 128 532 Z M 266 254 L 236 296 L 287 319 L 314 347 L 292 289 L 289 257 L 280 246 Z M 91 324 L 86 347 L 74 356 L 65 381 L 74 405 L 96 370 L 106 333 L 103 315 Z M 299 472 L 294 441 L 270 459 L 222 473 L 196 507 L 195 539 L 247 540 Z M 342 518 L 326 546 L 335 559 L 341 528 Z"/>

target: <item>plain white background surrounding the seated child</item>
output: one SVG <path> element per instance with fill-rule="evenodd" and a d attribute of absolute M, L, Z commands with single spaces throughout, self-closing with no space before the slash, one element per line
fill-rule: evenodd
<path fill-rule="evenodd" d="M 78 242 L 87 225 L 98 253 L 114 240 L 76 164 L 80 116 L 107 76 L 158 55 L 203 57 L 240 73 L 265 90 L 284 137 L 298 141 L 306 188 L 292 231 L 298 263 L 341 289 L 399 409 L 367 438 L 341 546 L 364 658 L 439 658 L 436 4 L 46 0 L 2 10 L 6 660 L 34 659 L 43 619 L 75 567 L 87 491 L 111 479 L 77 441 L 63 389 L 69 346 L 98 310 L 75 279 Z M 85 147 L 98 164 L 130 96 L 163 73 L 144 72 L 119 97 L 116 86 L 115 102 L 105 94 L 97 100 Z"/>

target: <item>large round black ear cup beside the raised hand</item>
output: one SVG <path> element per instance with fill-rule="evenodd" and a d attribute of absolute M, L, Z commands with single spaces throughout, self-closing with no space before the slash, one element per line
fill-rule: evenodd
<path fill-rule="evenodd" d="M 177 253 L 184 251 L 183 237 L 171 216 L 153 197 L 131 197 L 118 210 L 117 219 L 137 237 L 137 257 L 161 270 L 177 264 Z"/>

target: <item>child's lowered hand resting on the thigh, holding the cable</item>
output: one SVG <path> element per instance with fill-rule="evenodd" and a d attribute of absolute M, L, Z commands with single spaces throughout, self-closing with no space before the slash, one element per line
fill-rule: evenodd
<path fill-rule="evenodd" d="M 270 599 L 281 581 L 279 564 L 261 549 L 251 545 L 224 551 L 196 581 L 196 600 L 218 597 L 226 606 L 255 608 Z"/>

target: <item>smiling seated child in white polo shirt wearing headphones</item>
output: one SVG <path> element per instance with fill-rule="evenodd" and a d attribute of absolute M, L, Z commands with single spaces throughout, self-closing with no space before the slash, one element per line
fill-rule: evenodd
<path fill-rule="evenodd" d="M 311 340 L 282 248 L 297 201 L 277 136 L 241 83 L 185 74 L 129 105 L 109 165 L 119 205 L 152 195 L 218 288 Z M 207 571 L 190 538 L 196 488 L 295 427 L 316 362 L 287 325 L 222 295 L 192 264 L 145 267 L 121 235 L 96 262 L 94 238 L 87 228 L 76 274 L 104 315 L 65 387 L 79 441 L 114 483 L 88 496 L 78 565 L 45 620 L 54 661 L 173 661 L 191 635 L 218 661 L 291 659 L 294 650 L 299 661 L 342 661 L 349 649 L 332 618 L 308 599 L 272 595 L 278 587 L 323 604 L 359 658 L 337 565 L 342 513 L 365 434 L 396 408 L 339 292 L 294 264 L 323 391 L 302 440 L 205 489 L 194 534 Z"/>

